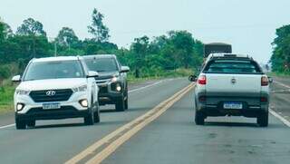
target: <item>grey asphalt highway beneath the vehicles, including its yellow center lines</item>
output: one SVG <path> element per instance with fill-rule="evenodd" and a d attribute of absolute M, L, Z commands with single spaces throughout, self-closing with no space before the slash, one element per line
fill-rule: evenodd
<path fill-rule="evenodd" d="M 101 123 L 93 126 L 73 119 L 15 130 L 13 114 L 0 116 L 0 163 L 286 164 L 289 86 L 289 79 L 275 78 L 271 112 L 276 116 L 270 115 L 267 128 L 242 117 L 208 118 L 197 126 L 194 85 L 186 78 L 131 86 L 130 109 L 106 107 Z"/>

